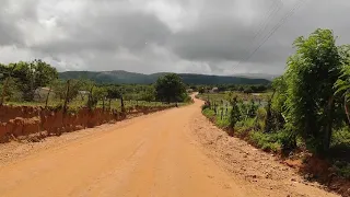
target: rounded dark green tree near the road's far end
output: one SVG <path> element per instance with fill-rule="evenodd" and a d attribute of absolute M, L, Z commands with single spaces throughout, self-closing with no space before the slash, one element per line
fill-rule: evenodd
<path fill-rule="evenodd" d="M 179 76 L 175 73 L 160 77 L 155 83 L 156 99 L 162 102 L 183 102 L 186 94 L 186 86 Z"/>

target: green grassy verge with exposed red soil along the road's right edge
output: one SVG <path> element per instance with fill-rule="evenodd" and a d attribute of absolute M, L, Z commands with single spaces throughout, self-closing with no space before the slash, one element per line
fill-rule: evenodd
<path fill-rule="evenodd" d="M 211 108 L 203 107 L 202 114 L 215 126 L 230 136 L 241 138 L 266 152 L 279 155 L 283 163 L 300 171 L 306 179 L 317 181 L 341 195 L 350 195 L 350 132 L 346 127 L 334 131 L 331 152 L 326 158 L 310 154 L 305 144 L 296 140 L 298 149 L 292 154 L 283 155 L 283 142 L 288 139 L 285 131 L 262 132 L 262 120 L 246 118 L 230 128 L 229 117 L 221 118 Z M 295 161 L 300 162 L 295 162 Z M 291 162 L 290 162 L 291 161 Z M 294 162 L 293 162 L 294 161 Z M 299 165 L 298 163 L 301 163 Z"/>

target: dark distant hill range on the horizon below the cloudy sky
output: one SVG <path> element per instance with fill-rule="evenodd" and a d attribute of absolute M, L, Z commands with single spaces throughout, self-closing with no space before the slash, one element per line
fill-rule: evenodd
<path fill-rule="evenodd" d="M 125 83 L 125 84 L 150 84 L 154 83 L 159 77 L 167 72 L 153 74 L 142 74 L 127 72 L 124 70 L 115 71 L 67 71 L 60 72 L 59 78 L 68 79 L 90 79 L 97 83 Z M 232 76 L 205 76 L 194 73 L 179 73 L 187 84 L 267 84 L 267 79 L 255 79 L 250 77 L 232 77 Z"/>

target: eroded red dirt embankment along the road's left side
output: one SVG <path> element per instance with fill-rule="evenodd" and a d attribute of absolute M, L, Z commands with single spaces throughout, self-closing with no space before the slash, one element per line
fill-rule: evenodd
<path fill-rule="evenodd" d="M 47 109 L 32 106 L 0 106 L 0 142 L 11 139 L 35 136 L 61 135 L 106 123 L 125 119 L 127 116 L 149 114 L 173 106 L 136 106 L 127 113 L 104 111 L 103 108 L 80 108 L 75 113 L 63 113 L 63 109 Z"/>

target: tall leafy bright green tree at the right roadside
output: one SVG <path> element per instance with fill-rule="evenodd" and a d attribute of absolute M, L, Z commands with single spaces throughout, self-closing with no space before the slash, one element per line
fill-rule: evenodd
<path fill-rule="evenodd" d="M 335 118 L 334 84 L 339 77 L 341 58 L 334 34 L 316 30 L 308 38 L 294 42 L 296 53 L 288 60 L 287 123 L 316 152 L 329 149 Z"/>

